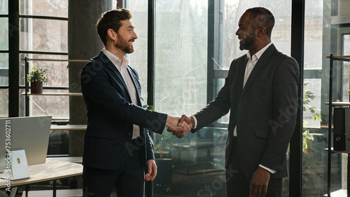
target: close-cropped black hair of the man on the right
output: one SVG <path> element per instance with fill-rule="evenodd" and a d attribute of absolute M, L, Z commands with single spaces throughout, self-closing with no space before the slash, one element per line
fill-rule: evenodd
<path fill-rule="evenodd" d="M 270 10 L 263 7 L 249 8 L 246 12 L 251 13 L 251 20 L 255 22 L 258 27 L 265 27 L 266 34 L 271 38 L 271 32 L 274 28 L 274 15 Z"/>

